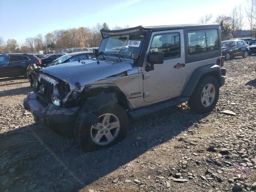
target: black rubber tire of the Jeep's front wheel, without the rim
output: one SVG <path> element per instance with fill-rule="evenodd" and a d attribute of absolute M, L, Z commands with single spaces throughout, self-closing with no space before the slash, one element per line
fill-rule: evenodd
<path fill-rule="evenodd" d="M 125 110 L 117 103 L 110 104 L 109 106 L 106 106 L 100 110 L 97 110 L 93 112 L 96 116 L 101 116 L 102 114 L 111 113 L 114 114 L 119 122 L 120 122 L 120 130 L 118 132 L 118 135 L 116 138 L 109 144 L 106 145 L 99 145 L 96 144 L 92 138 L 91 138 L 91 127 L 92 125 L 89 122 L 81 122 L 80 121 L 80 115 L 82 114 L 82 111 L 78 114 L 76 118 L 76 122 L 74 125 L 74 138 L 76 142 L 78 143 L 78 146 L 82 147 L 82 149 L 85 152 L 98 150 L 102 148 L 108 148 L 120 140 L 124 139 L 127 132 L 128 132 L 128 117 L 125 112 Z"/>

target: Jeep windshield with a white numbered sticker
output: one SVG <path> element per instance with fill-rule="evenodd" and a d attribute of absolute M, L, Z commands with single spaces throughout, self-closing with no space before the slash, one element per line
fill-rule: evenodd
<path fill-rule="evenodd" d="M 104 35 L 100 44 L 99 53 L 132 59 L 132 53 L 140 55 L 144 36 L 141 32 L 126 35 Z"/>

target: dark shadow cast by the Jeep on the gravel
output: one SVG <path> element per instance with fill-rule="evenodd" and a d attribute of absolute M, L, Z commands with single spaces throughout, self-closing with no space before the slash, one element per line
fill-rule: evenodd
<path fill-rule="evenodd" d="M 3 174 L 0 169 L 0 180 L 4 183 L 0 191 L 27 190 L 29 183 L 48 192 L 82 189 L 120 166 L 125 168 L 126 163 L 168 142 L 205 116 L 178 106 L 161 110 L 132 122 L 128 136 L 115 146 L 87 153 L 73 139 L 64 138 L 41 124 L 27 126 L 26 132 L 18 132 L 22 127 L 8 132 L 7 136 L 0 134 L 0 163 L 7 162 Z M 137 136 L 142 137 L 138 147 Z M 9 173 L 12 168 L 17 172 Z"/>

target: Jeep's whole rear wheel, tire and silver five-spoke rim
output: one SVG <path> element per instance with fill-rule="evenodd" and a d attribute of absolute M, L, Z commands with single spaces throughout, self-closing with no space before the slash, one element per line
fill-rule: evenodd
<path fill-rule="evenodd" d="M 201 78 L 188 100 L 188 105 L 198 113 L 210 112 L 216 106 L 219 91 L 220 86 L 216 78 L 213 76 Z"/>

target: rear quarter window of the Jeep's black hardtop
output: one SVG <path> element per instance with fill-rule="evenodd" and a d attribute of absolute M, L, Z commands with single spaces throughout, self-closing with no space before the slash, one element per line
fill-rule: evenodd
<path fill-rule="evenodd" d="M 188 32 L 189 55 L 211 52 L 218 50 L 218 48 L 219 38 L 218 31 L 216 29 Z"/>

